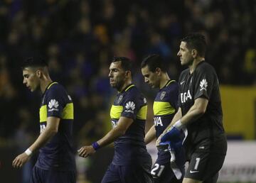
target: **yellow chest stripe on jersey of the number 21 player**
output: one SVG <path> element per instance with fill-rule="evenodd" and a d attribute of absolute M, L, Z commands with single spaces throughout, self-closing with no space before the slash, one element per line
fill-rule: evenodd
<path fill-rule="evenodd" d="M 175 113 L 174 107 L 166 101 L 154 101 L 153 111 L 155 116 L 169 115 Z"/>

